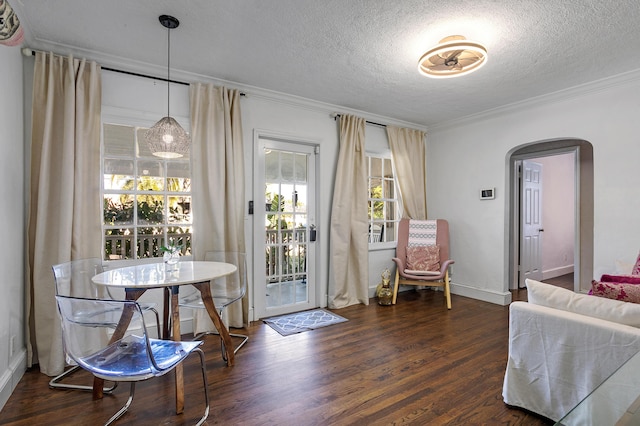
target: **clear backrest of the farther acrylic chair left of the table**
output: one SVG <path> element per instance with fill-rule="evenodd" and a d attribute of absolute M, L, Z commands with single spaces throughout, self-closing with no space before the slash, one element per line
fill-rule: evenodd
<path fill-rule="evenodd" d="M 56 295 L 99 299 L 105 290 L 91 281 L 94 275 L 102 272 L 102 261 L 98 258 L 72 260 L 53 265 Z"/>

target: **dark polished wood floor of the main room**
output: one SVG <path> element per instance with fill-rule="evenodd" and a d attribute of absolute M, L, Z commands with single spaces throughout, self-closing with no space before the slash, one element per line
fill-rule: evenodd
<path fill-rule="evenodd" d="M 526 290 L 513 296 L 524 300 Z M 428 289 L 401 293 L 395 306 L 371 302 L 336 311 L 348 322 L 287 337 L 255 322 L 231 368 L 217 338 L 207 337 L 207 424 L 553 424 L 502 401 L 508 307 L 452 295 L 447 311 L 442 292 Z M 194 424 L 203 407 L 196 368 L 195 358 L 187 361 L 184 414 L 175 415 L 169 374 L 139 385 L 119 424 Z M 51 390 L 48 380 L 28 371 L 0 424 L 103 424 L 128 396 L 120 385 L 92 401 L 88 393 Z"/>

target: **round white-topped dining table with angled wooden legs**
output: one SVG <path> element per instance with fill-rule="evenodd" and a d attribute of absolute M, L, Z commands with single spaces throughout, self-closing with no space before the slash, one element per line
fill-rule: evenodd
<path fill-rule="evenodd" d="M 176 341 L 181 339 L 178 292 L 182 285 L 193 285 L 200 291 L 207 313 L 224 342 L 227 365 L 232 366 L 234 363 L 234 350 L 231 336 L 215 307 L 209 282 L 212 279 L 230 275 L 234 273 L 236 269 L 235 265 L 224 262 L 184 261 L 178 262 L 176 265 L 150 263 L 110 269 L 94 276 L 92 281 L 96 285 L 123 289 L 127 300 L 138 300 L 148 289 L 168 289 L 171 293 L 169 303 L 172 325 L 171 335 L 173 340 Z M 131 317 L 128 316 L 125 311 L 111 337 L 111 341 L 116 341 L 124 335 L 130 320 Z M 178 365 L 175 370 L 176 414 L 180 414 L 184 410 L 184 377 L 182 364 Z M 103 380 L 94 378 L 94 399 L 102 398 L 102 389 Z"/>

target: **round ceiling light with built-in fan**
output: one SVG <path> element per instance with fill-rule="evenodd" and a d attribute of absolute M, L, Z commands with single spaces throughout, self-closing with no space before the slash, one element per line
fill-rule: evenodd
<path fill-rule="evenodd" d="M 418 70 L 432 78 L 450 78 L 469 74 L 487 62 L 487 49 L 480 43 L 454 35 L 440 40 L 418 61 Z"/>

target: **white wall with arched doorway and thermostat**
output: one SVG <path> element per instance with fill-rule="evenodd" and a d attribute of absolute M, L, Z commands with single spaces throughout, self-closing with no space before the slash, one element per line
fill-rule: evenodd
<path fill-rule="evenodd" d="M 508 152 L 536 141 L 577 138 L 593 145 L 594 276 L 640 246 L 640 76 L 432 128 L 427 136 L 429 214 L 450 222 L 452 291 L 508 303 Z M 496 199 L 478 190 L 496 187 Z M 583 277 L 590 280 L 592 277 Z"/>

